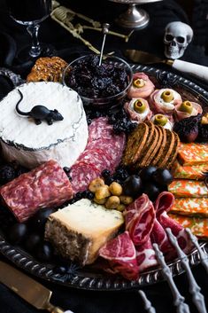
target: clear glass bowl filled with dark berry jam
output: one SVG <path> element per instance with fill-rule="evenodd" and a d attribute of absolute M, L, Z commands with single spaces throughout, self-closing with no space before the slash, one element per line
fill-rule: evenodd
<path fill-rule="evenodd" d="M 127 64 L 127 62 L 124 59 L 120 59 L 118 57 L 107 57 L 106 59 L 104 59 L 102 61 L 102 66 L 103 65 L 105 66 L 105 64 L 107 64 L 106 67 L 113 66 L 115 68 L 116 72 L 119 72 L 119 69 L 123 69 L 124 70 L 124 76 L 126 77 L 126 79 L 124 80 L 124 82 L 121 82 L 121 80 L 118 80 L 118 79 L 117 80 L 114 79 L 114 81 L 112 81 L 112 83 L 121 82 L 121 83 L 119 83 L 121 85 L 121 86 L 119 86 L 120 87 L 119 91 L 116 92 L 115 94 L 113 94 L 113 92 L 114 92 L 114 90 L 116 90 L 117 86 L 113 90 L 112 84 L 109 84 L 108 89 L 103 87 L 102 92 L 104 93 L 104 96 L 100 97 L 99 92 L 96 89 L 96 87 L 93 87 L 91 85 L 91 82 L 93 80 L 89 79 L 89 77 L 94 77 L 94 78 L 97 77 L 98 79 L 101 79 L 101 81 L 102 81 L 102 77 L 104 77 L 103 78 L 103 82 L 104 82 L 104 79 L 106 79 L 106 77 L 110 77 L 110 79 L 112 79 L 112 75 L 109 74 L 111 72 L 111 69 L 109 71 L 106 71 L 105 76 L 103 76 L 103 73 L 102 74 L 92 73 L 91 68 L 92 68 L 92 60 L 93 59 L 96 59 L 96 61 L 97 61 L 97 59 L 99 59 L 99 56 L 92 55 L 92 54 L 85 55 L 81 58 L 74 59 L 73 62 L 71 62 L 67 67 L 65 67 L 64 74 L 63 74 L 64 85 L 68 86 L 71 89 L 78 92 L 78 94 L 80 95 L 80 97 L 83 101 L 84 106 L 96 106 L 97 108 L 102 108 L 102 109 L 108 108 L 111 106 L 118 106 L 120 101 L 126 97 L 127 90 L 131 86 L 131 83 L 133 80 L 132 68 L 130 67 L 129 64 Z M 88 61 L 89 61 L 89 63 L 87 63 Z M 88 65 L 87 67 L 86 67 L 86 64 Z M 75 74 L 74 74 L 76 85 L 74 85 L 72 83 L 72 81 L 74 82 L 74 80 L 72 80 L 71 70 L 74 69 L 74 67 L 80 67 L 79 70 L 77 70 L 77 72 L 75 72 Z M 99 66 L 97 64 L 96 66 L 93 67 L 93 70 L 97 71 L 98 68 L 99 68 Z M 101 70 L 102 70 L 102 68 L 101 68 Z M 116 72 L 114 72 L 114 74 Z M 90 93 L 92 93 L 92 92 L 95 94 L 97 93 L 98 96 L 86 95 L 86 92 L 85 92 L 85 94 L 81 94 L 81 90 L 80 90 L 81 86 L 79 85 L 79 80 L 82 79 L 82 81 L 83 81 L 86 76 L 88 76 L 87 77 L 87 83 L 86 83 L 86 89 L 85 89 L 85 86 L 82 86 L 82 90 L 84 89 L 84 91 L 86 91 L 86 92 L 88 92 L 88 90 L 89 90 Z M 103 83 L 103 82 L 101 82 L 101 83 Z M 88 86 L 88 84 L 89 84 L 89 86 Z M 112 93 L 111 93 L 111 90 L 112 90 Z M 108 91 L 109 91 L 109 94 L 108 94 Z"/>

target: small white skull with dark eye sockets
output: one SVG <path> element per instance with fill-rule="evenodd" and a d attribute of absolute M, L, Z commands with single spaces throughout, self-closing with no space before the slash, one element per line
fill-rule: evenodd
<path fill-rule="evenodd" d="M 192 38 L 193 30 L 188 24 L 178 21 L 167 24 L 164 35 L 166 58 L 181 58 Z"/>

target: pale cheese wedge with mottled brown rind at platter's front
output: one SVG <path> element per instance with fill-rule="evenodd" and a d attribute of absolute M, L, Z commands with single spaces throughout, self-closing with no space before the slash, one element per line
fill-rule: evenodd
<path fill-rule="evenodd" d="M 45 239 L 66 259 L 81 265 L 90 264 L 96 260 L 100 247 L 117 234 L 122 223 L 124 219 L 119 211 L 82 199 L 49 216 Z"/>

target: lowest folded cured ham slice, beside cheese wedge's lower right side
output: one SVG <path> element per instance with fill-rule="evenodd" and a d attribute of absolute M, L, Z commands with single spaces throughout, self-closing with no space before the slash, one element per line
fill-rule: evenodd
<path fill-rule="evenodd" d="M 118 272 L 129 280 L 138 278 L 139 268 L 136 262 L 135 246 L 128 231 L 109 240 L 99 250 L 99 255 L 108 260 L 114 273 Z"/>

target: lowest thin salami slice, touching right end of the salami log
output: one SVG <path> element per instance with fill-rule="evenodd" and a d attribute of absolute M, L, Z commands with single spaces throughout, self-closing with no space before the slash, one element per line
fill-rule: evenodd
<path fill-rule="evenodd" d="M 88 189 L 89 183 L 100 176 L 100 171 L 94 164 L 80 161 L 73 165 L 70 176 L 72 177 L 73 192 L 84 192 Z"/>

